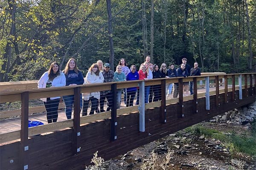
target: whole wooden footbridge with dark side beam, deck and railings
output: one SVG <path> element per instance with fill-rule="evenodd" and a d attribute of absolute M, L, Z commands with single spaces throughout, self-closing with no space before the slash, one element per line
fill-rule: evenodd
<path fill-rule="evenodd" d="M 222 86 L 219 79 L 224 79 Z M 204 88 L 198 88 L 198 81 L 204 81 Z M 215 83 L 211 84 L 212 81 Z M 166 85 L 175 82 L 180 87 L 179 97 L 166 98 Z M 194 82 L 193 95 L 183 96 L 183 82 Z M 84 170 L 97 150 L 105 160 L 111 159 L 256 100 L 256 73 L 32 89 L 35 83 L 0 84 L 0 103 L 20 105 L 20 109 L 0 112 L 1 170 Z M 144 104 L 144 88 L 148 85 L 161 85 L 161 101 Z M 129 87 L 140 88 L 140 105 L 116 109 L 114 102 L 112 111 L 81 116 L 80 93 L 111 90 L 116 101 L 116 90 Z M 16 90 L 6 91 L 13 88 Z M 43 106 L 29 107 L 31 100 L 71 94 L 74 94 L 73 119 L 28 128 L 31 114 L 43 111 Z M 14 119 L 18 120 L 16 130 L 4 131 L 3 121 Z"/>

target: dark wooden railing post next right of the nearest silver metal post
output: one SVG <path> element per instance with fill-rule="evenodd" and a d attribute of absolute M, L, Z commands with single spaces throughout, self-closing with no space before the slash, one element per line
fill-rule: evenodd
<path fill-rule="evenodd" d="M 166 123 L 166 79 L 161 80 L 161 123 Z"/>

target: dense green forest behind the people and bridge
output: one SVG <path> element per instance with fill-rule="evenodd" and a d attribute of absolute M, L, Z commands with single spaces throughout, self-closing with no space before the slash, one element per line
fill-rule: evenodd
<path fill-rule="evenodd" d="M 256 72 L 255 0 L 0 0 L 0 82 L 39 79 L 70 57 L 84 76 L 186 57 L 204 72 Z M 113 66 L 115 66 L 113 68 Z"/>

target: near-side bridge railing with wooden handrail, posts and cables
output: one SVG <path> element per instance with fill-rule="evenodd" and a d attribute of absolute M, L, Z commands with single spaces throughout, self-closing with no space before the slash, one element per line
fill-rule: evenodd
<path fill-rule="evenodd" d="M 220 88 L 219 79 L 224 79 L 224 85 Z M 214 91 L 209 90 L 209 84 L 211 80 L 215 80 Z M 198 82 L 205 82 L 205 91 L 198 92 Z M 189 96 L 183 96 L 183 82 L 194 82 L 194 94 Z M 166 86 L 170 83 L 179 84 L 179 97 L 177 98 L 166 98 Z M 26 144 L 29 136 L 35 136 L 42 133 L 49 133 L 55 130 L 61 130 L 65 128 L 73 127 L 74 134 L 79 136 L 79 127 L 81 125 L 86 125 L 90 122 L 101 121 L 102 119 L 111 119 L 111 139 L 116 139 L 115 126 L 116 126 L 116 116 L 123 114 L 140 112 L 140 131 L 145 130 L 145 110 L 149 108 L 161 107 L 161 122 L 166 122 L 166 105 L 171 105 L 173 103 L 179 103 L 179 117 L 185 116 L 185 111 L 183 110 L 183 102 L 188 100 L 193 100 L 193 111 L 197 112 L 198 102 L 197 99 L 205 97 L 206 99 L 206 109 L 210 109 L 209 96 L 216 95 L 216 105 L 220 105 L 218 102 L 219 95 L 225 94 L 225 103 L 228 103 L 228 92 L 232 91 L 232 100 L 235 100 L 235 93 L 239 90 L 239 99 L 243 97 L 256 95 L 256 74 L 215 74 L 199 77 L 175 77 L 169 79 L 151 79 L 151 80 L 137 80 L 137 81 L 126 81 L 126 82 L 110 82 L 102 84 L 93 85 L 77 85 L 77 86 L 67 86 L 60 88 L 42 88 L 42 89 L 24 89 L 19 91 L 6 91 L 0 93 L 0 103 L 8 102 L 20 102 L 20 113 L 4 113 L 0 112 L 0 118 L 8 118 L 10 116 L 20 116 L 20 130 L 15 130 L 11 132 L 1 132 L 0 142 L 10 142 L 13 140 L 19 140 L 24 145 Z M 112 111 L 106 111 L 104 113 L 93 114 L 90 116 L 81 116 L 80 114 L 80 94 L 95 92 L 95 91 L 105 91 L 111 90 L 113 92 L 113 99 L 116 99 L 116 90 L 122 88 L 139 87 L 140 91 L 145 90 L 145 86 L 151 85 L 161 85 L 162 98 L 158 102 L 146 103 L 144 105 L 144 94 L 140 93 L 140 105 L 134 105 L 127 108 L 116 108 L 116 102 L 113 104 Z M 2 87 L 2 86 L 1 86 Z M 254 88 L 253 88 L 254 87 Z M 242 94 L 242 89 L 244 94 Z M 64 95 L 74 95 L 74 111 L 73 119 L 64 120 L 60 122 L 50 123 L 46 125 L 41 125 L 37 127 L 28 128 L 29 113 L 32 113 L 32 109 L 29 108 L 29 100 L 40 99 L 45 97 L 54 96 L 64 96 Z M 144 117 L 143 117 L 144 116 Z M 144 120 L 143 120 L 144 119 Z M 18 126 L 19 127 L 19 126 Z"/>

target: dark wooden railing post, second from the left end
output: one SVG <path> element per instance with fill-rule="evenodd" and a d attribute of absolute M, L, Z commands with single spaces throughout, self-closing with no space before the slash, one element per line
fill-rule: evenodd
<path fill-rule="evenodd" d="M 73 154 L 80 152 L 80 94 L 81 87 L 74 88 L 74 120 L 73 120 L 73 142 L 72 142 L 72 151 Z"/>

